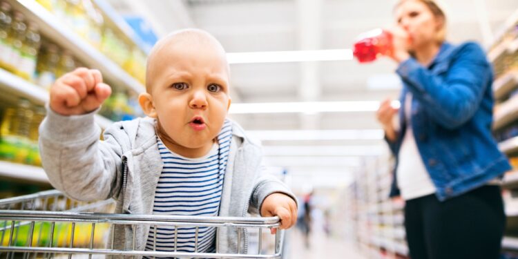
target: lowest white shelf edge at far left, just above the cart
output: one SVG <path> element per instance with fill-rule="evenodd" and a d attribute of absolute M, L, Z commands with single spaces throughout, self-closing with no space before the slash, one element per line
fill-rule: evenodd
<path fill-rule="evenodd" d="M 47 175 L 41 167 L 0 161 L 0 177 L 48 184 Z"/>

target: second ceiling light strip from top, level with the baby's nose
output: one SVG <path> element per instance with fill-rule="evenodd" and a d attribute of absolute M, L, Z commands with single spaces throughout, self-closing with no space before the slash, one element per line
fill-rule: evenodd
<path fill-rule="evenodd" d="M 392 101 L 392 107 L 399 108 L 399 101 Z M 378 101 L 349 102 L 269 102 L 256 104 L 232 104 L 229 113 L 332 113 L 377 111 Z"/>

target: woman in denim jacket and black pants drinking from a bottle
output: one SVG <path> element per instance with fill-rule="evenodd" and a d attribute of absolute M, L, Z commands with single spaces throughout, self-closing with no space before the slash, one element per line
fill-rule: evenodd
<path fill-rule="evenodd" d="M 479 45 L 444 41 L 433 1 L 399 1 L 394 13 L 401 108 L 387 99 L 377 118 L 396 156 L 391 196 L 406 201 L 410 257 L 499 258 L 506 215 L 495 182 L 510 165 L 491 135 L 491 66 Z"/>

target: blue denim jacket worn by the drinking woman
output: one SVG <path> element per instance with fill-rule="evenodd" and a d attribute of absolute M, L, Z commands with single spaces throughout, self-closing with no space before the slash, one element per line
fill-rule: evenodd
<path fill-rule="evenodd" d="M 403 81 L 401 104 L 406 93 L 413 95 L 410 126 L 439 200 L 466 193 L 511 169 L 491 134 L 492 67 L 478 44 L 443 43 L 428 68 L 410 58 L 396 73 Z M 404 112 L 399 109 L 396 140 L 387 140 L 396 168 L 405 135 Z M 390 196 L 396 195 L 394 175 Z"/>

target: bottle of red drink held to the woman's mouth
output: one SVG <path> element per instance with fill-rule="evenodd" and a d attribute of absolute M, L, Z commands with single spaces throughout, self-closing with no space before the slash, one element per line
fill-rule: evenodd
<path fill-rule="evenodd" d="M 392 52 L 392 35 L 382 29 L 370 30 L 358 36 L 354 44 L 354 57 L 360 63 L 372 62 L 379 55 Z"/>

